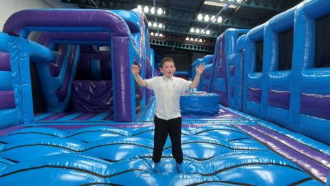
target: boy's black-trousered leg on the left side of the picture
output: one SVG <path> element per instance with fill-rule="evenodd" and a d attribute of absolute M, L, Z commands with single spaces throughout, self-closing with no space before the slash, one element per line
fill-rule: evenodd
<path fill-rule="evenodd" d="M 166 142 L 168 134 L 168 124 L 166 120 L 157 118 L 155 116 L 155 134 L 153 136 L 153 162 L 159 163 L 160 158 L 162 158 L 162 152 Z"/>

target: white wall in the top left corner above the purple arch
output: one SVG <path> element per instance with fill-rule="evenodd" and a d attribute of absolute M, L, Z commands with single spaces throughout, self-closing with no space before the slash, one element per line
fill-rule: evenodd
<path fill-rule="evenodd" d="M 14 12 L 33 8 L 78 8 L 70 3 L 61 3 L 61 0 L 10 0 L 1 2 L 0 6 L 0 30 L 3 24 Z"/>

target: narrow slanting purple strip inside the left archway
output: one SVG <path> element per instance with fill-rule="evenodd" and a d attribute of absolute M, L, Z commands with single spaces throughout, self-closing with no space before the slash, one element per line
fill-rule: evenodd
<path fill-rule="evenodd" d="M 56 96 L 59 102 L 65 101 L 67 98 L 67 90 L 69 89 L 70 76 L 72 74 L 72 66 L 74 65 L 74 56 L 76 55 L 77 46 L 72 46 L 69 56 L 69 64 L 67 70 L 65 71 L 63 86 L 60 90 L 56 90 Z"/>

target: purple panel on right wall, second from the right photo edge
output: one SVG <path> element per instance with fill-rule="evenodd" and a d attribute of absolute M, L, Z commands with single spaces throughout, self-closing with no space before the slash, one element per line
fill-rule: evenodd
<path fill-rule="evenodd" d="M 290 109 L 290 92 L 283 90 L 268 91 L 268 105 L 284 110 Z"/>

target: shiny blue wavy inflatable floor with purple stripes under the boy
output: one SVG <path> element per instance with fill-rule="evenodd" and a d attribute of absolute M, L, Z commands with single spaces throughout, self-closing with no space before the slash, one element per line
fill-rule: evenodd
<path fill-rule="evenodd" d="M 160 173 L 153 173 L 150 107 L 134 123 L 107 121 L 107 113 L 92 115 L 44 113 L 35 123 L 1 130 L 0 185 L 324 185 L 327 181 L 329 146 L 226 107 L 213 118 L 184 117 L 183 174 L 175 169 L 169 140 Z"/>

